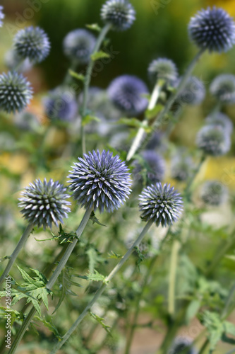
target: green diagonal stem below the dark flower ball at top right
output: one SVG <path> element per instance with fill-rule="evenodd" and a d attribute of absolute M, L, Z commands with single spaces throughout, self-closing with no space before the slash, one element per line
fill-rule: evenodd
<path fill-rule="evenodd" d="M 167 104 L 165 105 L 164 109 L 162 110 L 161 113 L 159 113 L 159 116 L 157 117 L 157 120 L 155 122 L 155 124 L 153 125 L 153 127 L 155 129 L 157 129 L 157 127 L 159 127 L 159 124 L 161 124 L 163 122 L 164 116 L 167 115 L 167 113 L 169 113 L 169 110 L 171 109 L 171 106 L 173 105 L 174 101 L 176 101 L 176 98 L 179 96 L 179 94 L 183 91 L 183 89 L 185 88 L 188 78 L 189 76 L 191 76 L 193 69 L 195 67 L 195 64 L 197 64 L 198 60 L 200 59 L 201 55 L 203 55 L 203 52 L 205 52 L 205 49 L 200 50 L 200 52 L 198 52 L 197 55 L 195 55 L 195 57 L 193 58 L 193 60 L 191 61 L 191 64 L 189 64 L 185 74 L 183 75 L 179 86 L 176 89 L 176 92 L 173 93 L 169 100 L 167 101 Z"/>

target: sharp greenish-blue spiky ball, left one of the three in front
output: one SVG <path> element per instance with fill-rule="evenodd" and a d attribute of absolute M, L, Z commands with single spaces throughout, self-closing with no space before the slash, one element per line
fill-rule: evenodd
<path fill-rule="evenodd" d="M 64 185 L 59 181 L 54 182 L 52 179 L 47 183 L 37 179 L 34 183 L 30 183 L 29 187 L 21 193 L 23 198 L 19 198 L 19 207 L 23 207 L 20 212 L 28 222 L 37 225 L 52 228 L 52 223 L 58 226 L 58 221 L 63 224 L 63 219 L 68 217 L 71 202 L 68 202 L 70 195 L 66 194 Z"/>

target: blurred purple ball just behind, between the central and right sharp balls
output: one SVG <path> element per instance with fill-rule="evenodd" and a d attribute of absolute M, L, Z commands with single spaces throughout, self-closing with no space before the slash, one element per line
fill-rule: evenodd
<path fill-rule="evenodd" d="M 133 174 L 135 180 L 147 184 L 162 181 L 165 171 L 165 162 L 162 156 L 151 150 L 142 152 L 140 159 L 135 161 Z"/>

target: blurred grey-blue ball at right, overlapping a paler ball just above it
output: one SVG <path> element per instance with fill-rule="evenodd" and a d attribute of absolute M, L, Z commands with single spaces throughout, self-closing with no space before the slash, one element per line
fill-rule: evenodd
<path fill-rule="evenodd" d="M 222 156 L 229 152 L 231 139 L 229 134 L 219 125 L 205 125 L 198 132 L 196 143 L 207 155 Z"/>

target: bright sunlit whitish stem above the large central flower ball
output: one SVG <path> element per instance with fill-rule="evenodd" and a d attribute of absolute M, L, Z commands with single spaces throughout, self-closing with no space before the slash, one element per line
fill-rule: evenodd
<path fill-rule="evenodd" d="M 157 81 L 157 84 L 155 85 L 155 88 L 152 91 L 152 96 L 150 98 L 150 103 L 147 107 L 148 110 L 152 110 L 153 108 L 155 108 L 155 105 L 158 101 L 159 95 L 162 91 L 162 86 L 164 83 Z M 145 127 L 147 127 L 148 124 L 148 120 L 147 118 L 145 118 L 145 120 L 143 120 L 143 125 L 145 125 Z M 126 161 L 130 161 L 132 159 L 132 157 L 134 156 L 135 152 L 138 150 L 138 148 L 140 147 L 140 144 L 143 140 L 143 137 L 145 135 L 145 129 L 144 127 L 140 127 L 140 129 L 138 130 L 138 133 L 135 137 L 135 139 L 133 140 L 133 143 L 131 144 L 131 148 L 127 154 L 126 157 Z"/>

